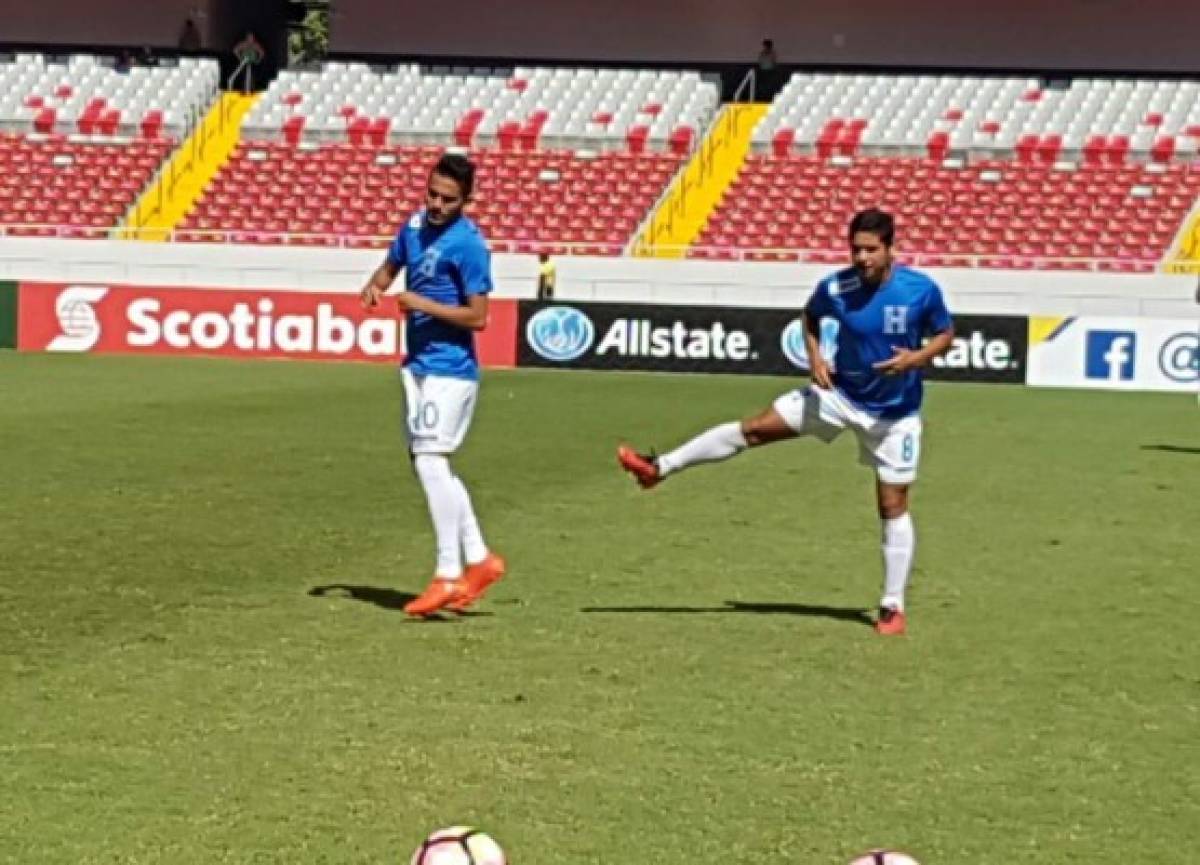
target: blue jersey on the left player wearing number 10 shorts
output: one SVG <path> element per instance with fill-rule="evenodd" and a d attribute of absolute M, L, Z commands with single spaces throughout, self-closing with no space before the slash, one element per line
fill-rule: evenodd
<path fill-rule="evenodd" d="M 492 290 L 491 254 L 484 235 L 464 216 L 431 226 L 418 211 L 396 233 L 388 250 L 392 266 L 404 269 L 409 292 L 445 304 L 467 306 L 473 294 Z M 475 335 L 424 312 L 404 317 L 404 366 L 418 376 L 479 378 Z"/>

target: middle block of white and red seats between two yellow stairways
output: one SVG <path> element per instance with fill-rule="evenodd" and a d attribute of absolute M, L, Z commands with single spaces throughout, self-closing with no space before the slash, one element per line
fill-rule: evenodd
<path fill-rule="evenodd" d="M 281 74 L 178 236 L 377 246 L 450 145 L 479 163 L 494 248 L 620 254 L 719 101 L 688 72 L 466 72 Z"/>

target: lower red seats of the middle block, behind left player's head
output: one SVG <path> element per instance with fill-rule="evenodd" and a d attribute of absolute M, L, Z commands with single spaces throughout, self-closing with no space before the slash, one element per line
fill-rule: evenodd
<path fill-rule="evenodd" d="M 444 145 L 244 142 L 180 240 L 379 246 L 418 206 Z M 499 252 L 620 254 L 678 169 L 674 154 L 481 150 L 472 208 Z"/>

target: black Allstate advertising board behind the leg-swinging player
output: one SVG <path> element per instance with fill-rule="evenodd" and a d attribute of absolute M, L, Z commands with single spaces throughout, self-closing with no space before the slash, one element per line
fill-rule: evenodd
<path fill-rule="evenodd" d="M 930 379 L 1024 382 L 1026 319 L 956 316 L 949 352 Z M 798 310 L 534 304 L 522 301 L 521 366 L 664 372 L 809 372 Z M 838 323 L 821 323 L 821 353 L 836 365 Z"/>

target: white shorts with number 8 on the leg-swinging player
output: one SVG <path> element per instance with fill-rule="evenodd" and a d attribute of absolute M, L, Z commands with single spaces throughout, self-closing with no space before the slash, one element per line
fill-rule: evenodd
<path fill-rule="evenodd" d="M 858 439 L 858 461 L 884 483 L 912 483 L 920 462 L 920 418 L 876 418 L 836 390 L 809 386 L 775 401 L 774 408 L 797 435 L 829 443 L 850 428 Z"/>

